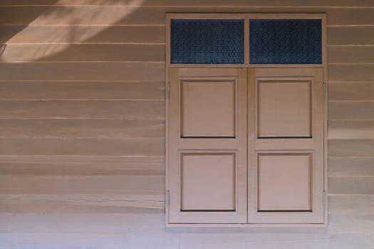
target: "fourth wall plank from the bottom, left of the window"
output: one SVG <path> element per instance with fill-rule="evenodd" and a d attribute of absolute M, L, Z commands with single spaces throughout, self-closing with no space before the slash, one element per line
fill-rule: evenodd
<path fill-rule="evenodd" d="M 165 191 L 165 176 L 0 176 L 0 194 L 144 194 Z"/>

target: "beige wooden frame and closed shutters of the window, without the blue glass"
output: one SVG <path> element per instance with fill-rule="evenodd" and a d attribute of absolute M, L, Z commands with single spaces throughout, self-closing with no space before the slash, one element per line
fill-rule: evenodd
<path fill-rule="evenodd" d="M 199 18 L 204 25 L 244 23 L 238 43 L 244 44 L 244 61 L 193 63 L 189 53 L 187 63 L 175 63 L 174 18 L 194 25 Z M 300 65 L 289 63 L 292 53 L 286 55 L 289 64 L 258 58 L 251 63 L 250 23 L 255 30 L 266 18 L 303 27 L 313 23 L 313 31 L 321 31 L 321 60 L 313 57 L 315 48 L 307 51 L 313 58 Z M 306 14 L 168 15 L 167 226 L 326 225 L 325 22 L 323 15 Z"/>

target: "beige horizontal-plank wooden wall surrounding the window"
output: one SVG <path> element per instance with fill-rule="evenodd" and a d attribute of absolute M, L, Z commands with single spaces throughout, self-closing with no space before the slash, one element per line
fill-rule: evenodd
<path fill-rule="evenodd" d="M 328 14 L 326 230 L 165 231 L 165 13 Z M 374 248 L 371 0 L 1 0 L 0 248 Z"/>

